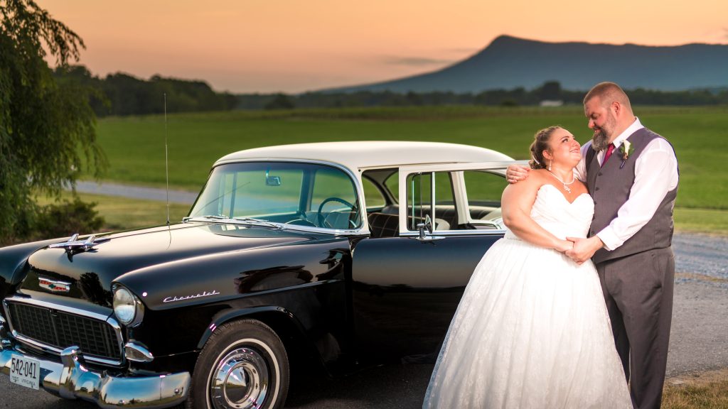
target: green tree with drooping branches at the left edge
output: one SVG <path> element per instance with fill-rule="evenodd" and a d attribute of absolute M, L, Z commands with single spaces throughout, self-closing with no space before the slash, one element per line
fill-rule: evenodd
<path fill-rule="evenodd" d="M 32 0 L 0 0 L 0 242 L 28 236 L 33 194 L 59 196 L 84 164 L 98 177 L 106 157 L 96 140 L 92 90 L 56 79 L 79 60 L 83 40 Z M 85 159 L 85 160 L 83 160 Z"/>

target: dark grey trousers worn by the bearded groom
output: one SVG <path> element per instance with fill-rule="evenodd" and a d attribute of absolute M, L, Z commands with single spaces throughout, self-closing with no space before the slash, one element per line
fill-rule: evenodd
<path fill-rule="evenodd" d="M 660 408 L 673 312 L 673 250 L 648 250 L 596 268 L 632 405 Z"/>

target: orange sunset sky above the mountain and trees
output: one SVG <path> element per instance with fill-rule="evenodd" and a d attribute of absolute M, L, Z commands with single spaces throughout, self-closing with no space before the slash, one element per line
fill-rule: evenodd
<path fill-rule="evenodd" d="M 420 74 L 500 34 L 728 44 L 728 0 L 37 1 L 84 39 L 80 63 L 93 74 L 204 79 L 230 92 L 302 92 Z"/>

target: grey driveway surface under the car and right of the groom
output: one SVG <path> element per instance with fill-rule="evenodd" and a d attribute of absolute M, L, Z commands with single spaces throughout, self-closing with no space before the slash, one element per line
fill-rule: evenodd
<path fill-rule="evenodd" d="M 728 238 L 677 234 L 676 286 L 667 376 L 728 368 Z M 432 365 L 387 365 L 294 387 L 287 408 L 421 408 Z M 0 376 L 0 408 L 95 408 L 10 384 Z"/>

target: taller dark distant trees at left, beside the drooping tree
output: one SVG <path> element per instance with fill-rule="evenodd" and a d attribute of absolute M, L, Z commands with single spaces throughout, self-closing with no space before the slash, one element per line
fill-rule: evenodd
<path fill-rule="evenodd" d="M 152 76 L 149 80 L 128 74 L 93 76 L 83 65 L 56 68 L 54 74 L 66 82 L 79 82 L 94 90 L 90 105 L 97 116 L 162 114 L 167 112 L 226 111 L 237 106 L 237 97 L 215 92 L 202 81 Z"/>

